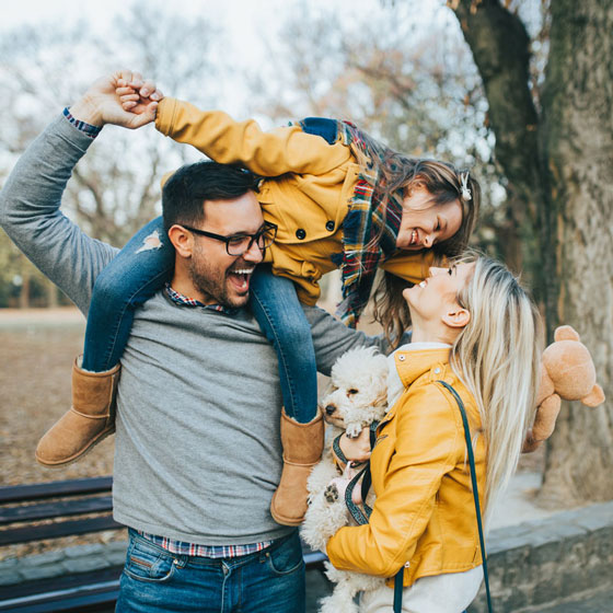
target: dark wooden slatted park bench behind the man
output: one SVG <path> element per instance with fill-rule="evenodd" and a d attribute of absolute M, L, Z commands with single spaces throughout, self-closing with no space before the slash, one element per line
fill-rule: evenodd
<path fill-rule="evenodd" d="M 112 477 L 0 487 L 0 545 L 90 534 L 125 527 L 113 520 Z M 325 556 L 303 545 L 307 569 L 322 568 Z M 119 593 L 123 564 L 0 586 L 0 612 L 109 611 Z"/>

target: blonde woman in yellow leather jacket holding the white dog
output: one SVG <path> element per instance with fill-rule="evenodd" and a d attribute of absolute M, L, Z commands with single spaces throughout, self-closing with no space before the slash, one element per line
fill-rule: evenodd
<path fill-rule="evenodd" d="M 340 570 L 389 578 L 404 566 L 403 611 L 459 613 L 479 588 L 482 554 L 462 418 L 441 381 L 465 406 L 487 516 L 533 417 L 541 326 L 499 263 L 465 259 L 430 275 L 404 291 L 413 337 L 389 358 L 391 409 L 370 458 L 369 523 L 342 528 L 326 551 Z M 391 611 L 392 602 L 381 587 L 363 592 L 360 610 Z"/>

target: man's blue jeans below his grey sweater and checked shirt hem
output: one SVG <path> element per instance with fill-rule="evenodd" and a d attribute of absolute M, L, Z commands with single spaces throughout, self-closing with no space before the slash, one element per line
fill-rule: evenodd
<path fill-rule="evenodd" d="M 130 530 L 116 613 L 304 613 L 298 531 L 254 554 L 171 554 Z"/>

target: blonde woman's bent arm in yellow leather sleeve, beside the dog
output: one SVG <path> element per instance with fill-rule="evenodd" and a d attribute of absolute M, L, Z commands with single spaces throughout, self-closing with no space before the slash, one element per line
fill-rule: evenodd
<path fill-rule="evenodd" d="M 458 458 L 463 458 L 455 413 L 433 384 L 406 395 L 397 407 L 394 449 L 383 467 L 383 488 L 378 491 L 370 522 L 342 528 L 327 542 L 327 556 L 336 568 L 392 577 L 413 558 L 441 481 Z M 393 424 L 388 425 L 391 427 Z M 378 444 L 385 446 L 385 438 L 383 428 Z M 375 466 L 377 453 L 375 447 L 371 460 Z"/>

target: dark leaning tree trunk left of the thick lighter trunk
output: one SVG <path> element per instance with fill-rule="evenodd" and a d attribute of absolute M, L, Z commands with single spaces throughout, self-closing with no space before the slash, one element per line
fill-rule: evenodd
<path fill-rule="evenodd" d="M 539 157 L 539 115 L 530 91 L 530 38 L 521 20 L 498 0 L 449 2 L 462 27 L 483 80 L 495 154 L 509 181 L 505 246 L 521 244 L 521 262 L 539 300 L 546 301 L 540 233 L 547 219 Z"/>

